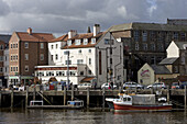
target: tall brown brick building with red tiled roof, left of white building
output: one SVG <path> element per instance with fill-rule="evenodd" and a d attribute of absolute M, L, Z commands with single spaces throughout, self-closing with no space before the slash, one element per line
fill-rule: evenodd
<path fill-rule="evenodd" d="M 9 82 L 16 84 L 33 79 L 34 66 L 48 64 L 47 42 L 53 34 L 14 32 L 9 42 Z"/>

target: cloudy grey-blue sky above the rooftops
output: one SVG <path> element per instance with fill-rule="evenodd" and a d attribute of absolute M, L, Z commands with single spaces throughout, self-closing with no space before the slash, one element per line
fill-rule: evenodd
<path fill-rule="evenodd" d="M 166 23 L 187 19 L 187 0 L 0 0 L 0 34 L 25 32 L 61 36 L 70 30 L 101 31 L 130 22 Z"/>

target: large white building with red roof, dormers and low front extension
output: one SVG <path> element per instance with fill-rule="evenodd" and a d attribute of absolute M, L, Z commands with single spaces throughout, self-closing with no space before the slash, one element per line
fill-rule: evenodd
<path fill-rule="evenodd" d="M 66 81 L 68 69 L 74 84 L 84 81 L 97 81 L 98 86 L 109 81 L 123 82 L 122 43 L 117 42 L 110 32 L 100 32 L 99 24 L 94 26 L 94 33 L 70 31 L 48 43 L 48 50 L 51 66 L 35 67 L 35 75 L 43 82 L 51 77 Z M 63 75 L 59 76 L 59 72 Z"/>

